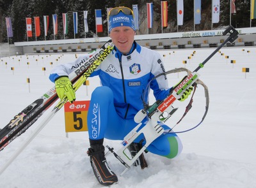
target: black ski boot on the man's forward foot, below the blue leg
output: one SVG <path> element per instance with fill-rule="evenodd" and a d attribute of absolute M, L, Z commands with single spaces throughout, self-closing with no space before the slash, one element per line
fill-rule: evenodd
<path fill-rule="evenodd" d="M 118 182 L 118 178 L 109 168 L 104 150 L 103 145 L 91 145 L 88 148 L 87 154 L 90 156 L 92 170 L 99 183 L 102 185 L 112 185 Z"/>

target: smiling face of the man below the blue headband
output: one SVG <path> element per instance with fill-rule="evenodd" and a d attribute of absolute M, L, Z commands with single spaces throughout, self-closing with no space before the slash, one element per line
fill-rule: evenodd
<path fill-rule="evenodd" d="M 128 54 L 132 48 L 135 31 L 131 27 L 115 27 L 109 33 L 114 45 L 123 54 Z"/>

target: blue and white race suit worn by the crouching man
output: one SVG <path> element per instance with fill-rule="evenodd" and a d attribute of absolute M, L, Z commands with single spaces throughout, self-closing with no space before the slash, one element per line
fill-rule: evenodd
<path fill-rule="evenodd" d="M 68 75 L 77 68 L 77 61 L 52 69 L 50 80 Z M 93 93 L 88 110 L 88 133 L 92 140 L 108 138 L 123 140 L 137 125 L 134 115 L 143 108 L 143 92 L 154 76 L 164 72 L 161 55 L 134 42 L 128 55 L 114 48 L 91 76 L 99 76 L 102 86 Z M 170 93 L 166 76 L 150 82 L 156 100 L 163 100 Z M 149 89 L 145 96 L 148 102 Z M 164 129 L 170 129 L 163 125 Z M 147 148 L 149 152 L 173 158 L 180 154 L 182 144 L 176 134 L 163 134 Z"/>

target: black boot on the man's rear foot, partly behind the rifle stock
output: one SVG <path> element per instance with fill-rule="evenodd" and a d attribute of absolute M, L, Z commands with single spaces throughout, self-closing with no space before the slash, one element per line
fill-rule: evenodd
<path fill-rule="evenodd" d="M 129 147 L 129 150 L 130 150 L 130 153 L 131 153 L 132 157 L 134 157 L 138 153 L 138 151 L 140 151 L 141 148 L 142 148 L 141 143 L 132 142 L 130 147 Z M 146 161 L 143 153 L 140 155 L 140 157 L 138 159 L 136 159 L 136 161 L 134 162 L 133 165 L 134 166 L 139 166 L 140 165 L 141 169 L 144 169 L 144 168 L 148 167 L 147 161 Z"/>

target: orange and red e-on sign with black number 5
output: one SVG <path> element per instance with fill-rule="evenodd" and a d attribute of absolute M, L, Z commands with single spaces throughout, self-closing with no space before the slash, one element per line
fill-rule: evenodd
<path fill-rule="evenodd" d="M 64 105 L 66 133 L 88 131 L 87 113 L 90 101 L 74 101 Z"/>

